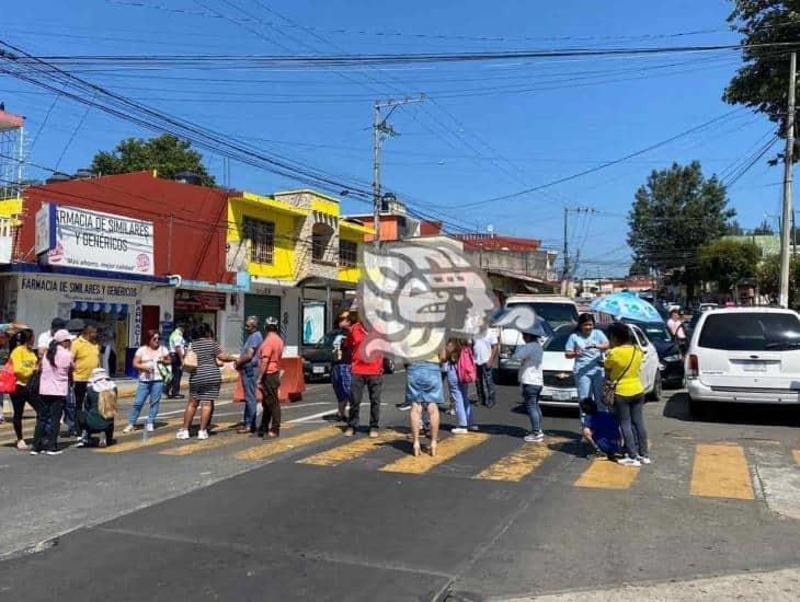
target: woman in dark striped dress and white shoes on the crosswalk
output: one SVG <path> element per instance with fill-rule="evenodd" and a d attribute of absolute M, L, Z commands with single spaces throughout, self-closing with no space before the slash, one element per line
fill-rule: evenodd
<path fill-rule="evenodd" d="M 219 362 L 233 361 L 236 358 L 222 352 L 219 343 L 214 340 L 208 324 L 198 324 L 192 334 L 188 349 L 197 356 L 197 370 L 188 377 L 188 403 L 183 413 L 183 427 L 175 435 L 176 439 L 188 439 L 188 427 L 194 420 L 197 406 L 201 406 L 201 427 L 197 439 L 208 439 L 208 424 L 214 413 L 214 402 L 219 397 L 222 375 Z"/>

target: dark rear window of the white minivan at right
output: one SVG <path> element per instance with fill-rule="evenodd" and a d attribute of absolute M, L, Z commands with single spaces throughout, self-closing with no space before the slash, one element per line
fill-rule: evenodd
<path fill-rule="evenodd" d="M 697 344 L 727 351 L 796 349 L 800 348 L 800 320 L 791 313 L 708 315 Z"/>

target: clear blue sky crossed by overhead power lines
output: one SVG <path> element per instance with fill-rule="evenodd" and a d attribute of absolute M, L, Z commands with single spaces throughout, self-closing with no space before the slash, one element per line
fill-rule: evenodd
<path fill-rule="evenodd" d="M 54 55 L 342 55 L 724 45 L 727 0 L 32 0 L 7 11 L 0 39 Z M 738 166 L 775 131 L 766 117 L 721 100 L 741 66 L 735 51 L 648 57 L 559 57 L 492 62 L 287 69 L 69 69 L 141 103 L 332 174 L 372 181 L 373 104 L 426 95 L 393 112 L 384 188 L 453 231 L 494 231 L 563 244 L 578 274 L 627 273 L 626 215 L 653 170 L 698 160 L 733 181 L 744 228 L 777 227 L 780 167 L 768 154 Z M 26 117 L 30 162 L 72 173 L 98 150 L 149 137 L 125 120 L 0 73 L 0 100 Z M 725 114 L 729 114 L 722 117 Z M 633 159 L 527 194 L 697 131 Z M 765 138 L 766 137 L 766 138 Z M 774 152 L 778 147 L 774 148 Z M 203 151 L 217 180 L 259 194 L 305 187 Z M 28 177 L 48 172 L 28 165 Z M 230 174 L 229 181 L 226 173 Z M 334 192 L 334 190 L 331 190 Z M 508 198 L 488 200 L 496 197 Z M 348 213 L 367 204 L 343 197 Z"/>

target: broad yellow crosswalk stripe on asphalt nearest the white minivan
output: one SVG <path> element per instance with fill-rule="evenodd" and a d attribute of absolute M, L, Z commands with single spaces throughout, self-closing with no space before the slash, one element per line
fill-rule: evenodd
<path fill-rule="evenodd" d="M 755 499 L 741 445 L 697 445 L 690 490 L 693 496 Z"/>

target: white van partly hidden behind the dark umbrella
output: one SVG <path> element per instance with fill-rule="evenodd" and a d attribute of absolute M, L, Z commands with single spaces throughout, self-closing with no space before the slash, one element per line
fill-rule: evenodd
<path fill-rule="evenodd" d="M 515 294 L 510 297 L 504 310 L 510 308 L 530 308 L 536 315 L 545 320 L 555 331 L 565 324 L 578 323 L 578 305 L 572 299 L 567 297 L 556 297 L 548 294 Z M 514 351 L 519 345 L 523 345 L 522 333 L 513 327 L 501 327 L 498 336 L 500 343 L 500 358 L 498 360 L 498 375 L 501 380 L 511 380 L 516 378 L 519 370 L 519 362 L 512 359 Z"/>

